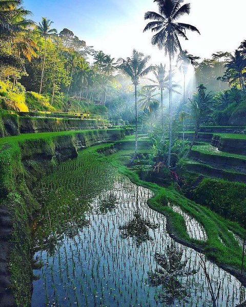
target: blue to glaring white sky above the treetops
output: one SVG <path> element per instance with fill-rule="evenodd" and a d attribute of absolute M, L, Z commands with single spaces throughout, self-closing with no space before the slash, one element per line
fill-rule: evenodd
<path fill-rule="evenodd" d="M 233 52 L 246 39 L 246 0 L 188 0 L 190 15 L 181 22 L 196 26 L 201 35 L 187 32 L 180 39 L 183 50 L 201 58 L 217 51 Z M 38 22 L 42 16 L 54 22 L 58 31 L 68 28 L 87 46 L 115 57 L 126 58 L 135 48 L 151 55 L 152 64 L 164 61 L 165 54 L 151 45 L 151 32 L 143 33 L 144 14 L 157 11 L 153 0 L 24 0 L 26 9 Z"/>

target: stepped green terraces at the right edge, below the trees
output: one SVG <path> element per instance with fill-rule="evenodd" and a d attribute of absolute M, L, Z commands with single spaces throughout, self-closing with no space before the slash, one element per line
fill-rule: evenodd
<path fill-rule="evenodd" d="M 186 131 L 192 140 L 194 131 Z M 201 127 L 198 144 L 183 163 L 204 176 L 246 182 L 246 130 L 244 127 Z"/>

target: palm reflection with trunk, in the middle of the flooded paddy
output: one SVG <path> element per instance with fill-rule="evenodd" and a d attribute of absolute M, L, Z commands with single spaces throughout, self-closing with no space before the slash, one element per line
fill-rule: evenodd
<path fill-rule="evenodd" d="M 126 239 L 127 237 L 133 238 L 136 246 L 139 247 L 142 243 L 147 240 L 152 240 L 152 237 L 149 234 L 149 229 L 156 229 L 157 224 L 151 223 L 149 220 L 146 220 L 144 216 L 141 216 L 139 212 L 139 187 L 137 186 L 136 193 L 136 212 L 132 220 L 122 226 L 119 226 L 121 232 L 121 237 Z"/>

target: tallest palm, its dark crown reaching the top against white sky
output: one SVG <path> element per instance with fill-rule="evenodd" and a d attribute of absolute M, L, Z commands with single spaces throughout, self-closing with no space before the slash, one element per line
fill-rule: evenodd
<path fill-rule="evenodd" d="M 154 0 L 159 8 L 159 13 L 147 12 L 145 19 L 151 19 L 144 29 L 157 32 L 152 37 L 152 45 L 157 45 L 159 49 L 164 49 L 165 53 L 169 55 L 169 150 L 167 165 L 170 166 L 171 147 L 172 147 L 172 59 L 177 51 L 181 51 L 179 37 L 185 38 L 186 31 L 191 30 L 198 32 L 196 27 L 189 24 L 177 23 L 176 20 L 185 14 L 190 13 L 190 4 L 184 4 L 183 0 Z"/>

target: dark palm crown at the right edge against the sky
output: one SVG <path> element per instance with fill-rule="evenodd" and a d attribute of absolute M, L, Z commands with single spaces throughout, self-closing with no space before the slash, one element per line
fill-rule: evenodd
<path fill-rule="evenodd" d="M 239 85 L 241 92 L 245 91 L 245 84 L 244 84 L 244 76 L 243 73 L 244 68 L 246 67 L 246 59 L 240 53 L 239 50 L 235 50 L 234 55 L 231 55 L 227 64 L 225 65 L 227 71 L 225 74 L 229 73 L 231 76 L 230 84 L 234 83 L 236 80 L 239 80 Z"/>

